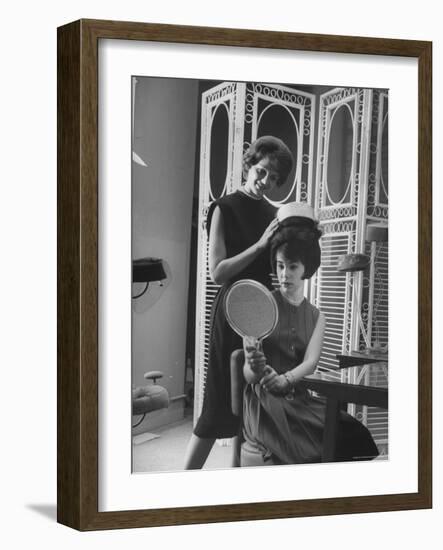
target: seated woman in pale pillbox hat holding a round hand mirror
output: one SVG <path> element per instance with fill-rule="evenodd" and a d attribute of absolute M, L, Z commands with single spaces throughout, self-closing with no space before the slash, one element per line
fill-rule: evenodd
<path fill-rule="evenodd" d="M 278 324 L 263 351 L 245 345 L 242 466 L 321 462 L 322 457 L 325 400 L 297 385 L 314 373 L 323 345 L 325 317 L 304 298 L 304 281 L 320 265 L 321 232 L 306 204 L 282 208 L 289 217 L 271 240 L 280 285 L 273 293 Z M 336 460 L 377 455 L 368 429 L 343 411 Z"/>

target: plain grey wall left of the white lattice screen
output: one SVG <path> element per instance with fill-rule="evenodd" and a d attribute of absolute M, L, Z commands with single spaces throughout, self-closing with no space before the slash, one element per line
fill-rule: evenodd
<path fill-rule="evenodd" d="M 170 397 L 184 392 L 197 99 L 195 80 L 137 78 L 134 150 L 148 166 L 133 163 L 132 255 L 161 258 L 168 278 L 132 301 L 132 382 L 161 370 Z M 149 427 L 177 420 L 183 405 L 150 414 Z"/>

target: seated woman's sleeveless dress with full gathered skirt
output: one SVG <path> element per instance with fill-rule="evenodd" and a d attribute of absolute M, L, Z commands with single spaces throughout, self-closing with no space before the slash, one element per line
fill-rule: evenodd
<path fill-rule="evenodd" d="M 299 365 L 317 324 L 319 310 L 307 300 L 290 304 L 274 291 L 278 324 L 263 342 L 267 363 L 283 374 Z M 248 384 L 243 398 L 243 433 L 248 450 L 259 452 L 264 463 L 321 462 L 325 401 L 297 388 L 285 398 L 274 396 L 259 384 Z M 378 455 L 369 430 L 353 416 L 341 412 L 337 461 L 368 460 Z"/>

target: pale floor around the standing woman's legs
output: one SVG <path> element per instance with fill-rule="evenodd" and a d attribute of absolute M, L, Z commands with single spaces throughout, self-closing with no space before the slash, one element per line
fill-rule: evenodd
<path fill-rule="evenodd" d="M 155 430 L 155 437 L 148 439 L 137 436 L 132 446 L 134 472 L 165 472 L 183 470 L 184 457 L 188 441 L 192 434 L 192 417 Z M 151 434 L 154 435 L 154 434 Z M 147 440 L 148 439 L 148 440 Z M 231 463 L 231 446 L 217 442 L 204 466 L 205 470 L 216 470 L 229 467 Z"/>

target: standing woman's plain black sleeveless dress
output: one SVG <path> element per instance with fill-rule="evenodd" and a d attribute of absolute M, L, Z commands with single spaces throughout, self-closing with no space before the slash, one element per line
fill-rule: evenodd
<path fill-rule="evenodd" d="M 243 252 L 263 235 L 275 217 L 275 208 L 265 199 L 255 200 L 241 191 L 226 195 L 211 204 L 207 231 L 209 234 L 214 208 L 223 217 L 226 256 Z M 243 347 L 241 338 L 228 325 L 223 311 L 223 297 L 229 286 L 240 279 L 254 279 L 271 288 L 269 251 L 265 250 L 218 291 L 212 305 L 211 332 L 205 393 L 200 418 L 194 428 L 202 438 L 228 438 L 238 434 L 239 418 L 231 411 L 231 353 Z"/>

